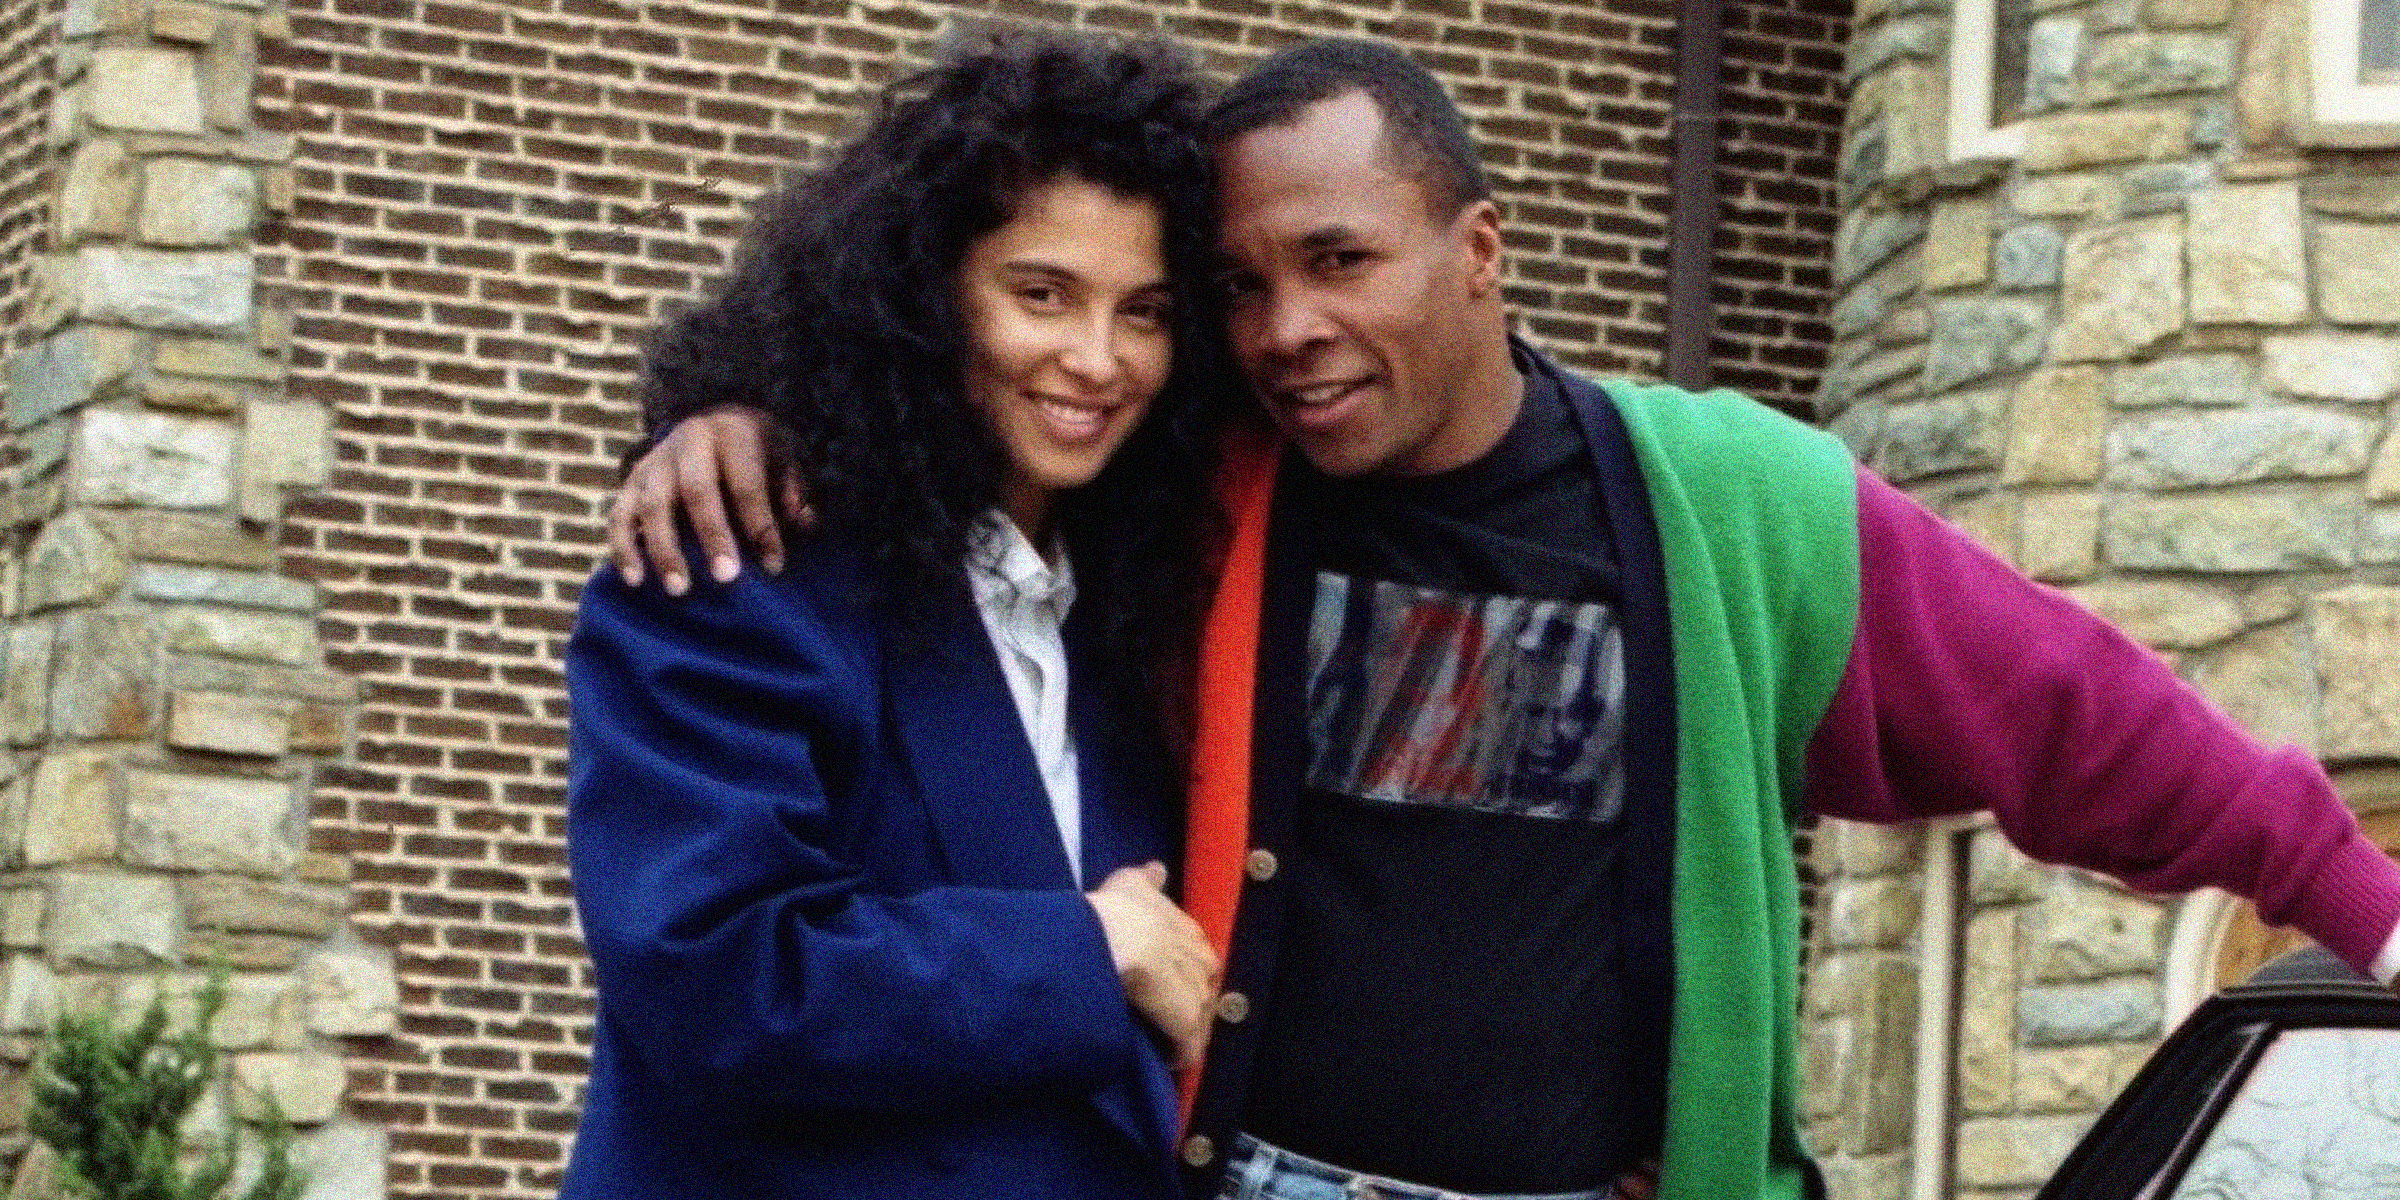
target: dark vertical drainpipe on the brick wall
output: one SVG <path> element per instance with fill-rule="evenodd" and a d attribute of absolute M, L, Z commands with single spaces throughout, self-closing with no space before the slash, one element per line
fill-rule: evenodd
<path fill-rule="evenodd" d="M 1716 247 L 1716 113 L 1723 91 L 1726 5 L 1682 5 L 1675 24 L 1675 211 L 1666 245 L 1666 379 L 1709 386 L 1709 254 Z"/>

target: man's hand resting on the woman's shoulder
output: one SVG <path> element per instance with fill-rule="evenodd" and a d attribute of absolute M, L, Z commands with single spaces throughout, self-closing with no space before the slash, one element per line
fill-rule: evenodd
<path fill-rule="evenodd" d="M 782 530 L 766 499 L 766 422 L 768 415 L 758 408 L 732 403 L 710 408 L 674 422 L 667 437 L 634 463 L 607 511 L 607 550 L 626 586 L 641 586 L 646 554 L 672 595 L 684 595 L 691 586 L 674 538 L 677 504 L 698 533 L 701 550 L 708 552 L 708 574 L 718 583 L 734 578 L 742 571 L 742 554 L 725 518 L 727 499 L 758 562 L 768 574 L 782 571 Z M 778 499 L 794 526 L 814 521 L 799 475 L 780 480 Z"/>

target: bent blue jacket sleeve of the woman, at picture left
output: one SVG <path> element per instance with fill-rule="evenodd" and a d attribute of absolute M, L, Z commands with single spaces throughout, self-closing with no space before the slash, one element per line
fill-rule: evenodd
<path fill-rule="evenodd" d="M 744 571 L 670 600 L 602 569 L 583 590 L 569 852 L 622 1054 L 703 1106 L 929 1111 L 1130 1075 L 1142 1032 L 1080 893 L 888 895 L 830 850 L 888 770 L 878 674 L 797 588 Z"/>

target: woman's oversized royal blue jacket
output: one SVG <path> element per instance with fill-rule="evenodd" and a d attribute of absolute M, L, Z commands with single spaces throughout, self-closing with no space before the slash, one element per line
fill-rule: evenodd
<path fill-rule="evenodd" d="M 1097 883 L 1171 862 L 1174 780 L 1087 643 L 1070 617 Z M 602 569 L 566 677 L 600 1020 L 562 1198 L 1176 1193 L 1162 1046 L 965 581 L 890 614 L 823 538 L 684 598 Z"/>

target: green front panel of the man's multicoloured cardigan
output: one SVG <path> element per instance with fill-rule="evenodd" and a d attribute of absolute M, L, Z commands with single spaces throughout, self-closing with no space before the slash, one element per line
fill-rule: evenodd
<path fill-rule="evenodd" d="M 1798 1200 L 1800 770 L 1858 624 L 1858 478 L 1733 391 L 1606 384 L 1666 557 L 1675 1008 L 1663 1200 Z"/>

